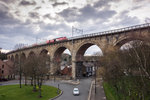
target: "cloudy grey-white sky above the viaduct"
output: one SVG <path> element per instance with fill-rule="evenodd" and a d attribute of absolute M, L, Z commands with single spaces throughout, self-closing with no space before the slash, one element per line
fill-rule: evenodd
<path fill-rule="evenodd" d="M 150 0 L 0 0 L 0 47 L 71 37 L 72 26 L 90 34 L 149 20 Z"/>

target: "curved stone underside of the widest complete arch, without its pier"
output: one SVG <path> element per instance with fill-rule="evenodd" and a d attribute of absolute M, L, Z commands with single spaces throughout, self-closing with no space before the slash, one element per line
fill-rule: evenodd
<path fill-rule="evenodd" d="M 77 46 L 77 48 L 75 49 L 75 55 L 74 55 L 74 59 L 77 60 L 81 60 L 82 56 L 84 55 L 85 51 L 92 45 L 97 45 L 103 52 L 103 48 L 104 46 L 102 46 L 99 42 L 96 41 L 85 41 L 83 43 L 81 43 L 80 45 Z"/>

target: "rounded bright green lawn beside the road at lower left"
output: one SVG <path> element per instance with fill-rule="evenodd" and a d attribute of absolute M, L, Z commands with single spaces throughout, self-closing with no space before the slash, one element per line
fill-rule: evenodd
<path fill-rule="evenodd" d="M 0 86 L 0 100 L 49 100 L 57 96 L 57 88 L 52 86 L 42 86 L 42 98 L 39 98 L 39 92 L 33 92 L 32 86 L 19 85 Z"/>

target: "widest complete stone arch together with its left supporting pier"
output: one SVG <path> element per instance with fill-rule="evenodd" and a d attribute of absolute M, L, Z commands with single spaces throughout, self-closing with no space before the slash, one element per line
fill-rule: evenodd
<path fill-rule="evenodd" d="M 80 43 L 79 45 L 76 45 L 75 52 L 73 55 L 73 65 L 72 65 L 72 77 L 81 77 L 83 75 L 86 75 L 86 67 L 83 65 L 84 62 L 84 54 L 86 50 L 91 47 L 92 45 L 96 45 L 101 49 L 102 53 L 105 48 L 105 44 L 101 44 L 98 41 L 84 41 Z"/>

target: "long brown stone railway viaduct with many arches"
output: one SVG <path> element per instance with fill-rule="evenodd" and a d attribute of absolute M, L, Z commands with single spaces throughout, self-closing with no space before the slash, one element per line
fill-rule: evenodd
<path fill-rule="evenodd" d="M 56 60 L 59 61 L 63 51 L 68 49 L 72 56 L 72 77 L 75 78 L 76 62 L 82 60 L 85 51 L 90 46 L 97 45 L 105 55 L 112 48 L 120 48 L 123 44 L 133 40 L 144 41 L 148 36 L 150 36 L 149 23 L 72 37 L 69 40 L 51 44 L 22 48 L 7 53 L 7 57 L 15 61 L 19 57 L 27 59 L 32 54 L 47 54 L 50 62 L 50 73 L 54 74 L 58 66 Z"/>

